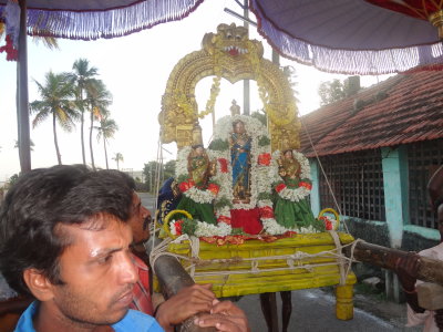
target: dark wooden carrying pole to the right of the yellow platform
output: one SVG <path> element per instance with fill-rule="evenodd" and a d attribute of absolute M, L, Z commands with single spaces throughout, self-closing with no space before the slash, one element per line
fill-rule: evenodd
<path fill-rule="evenodd" d="M 351 258 L 351 247 L 343 248 L 343 253 L 348 258 Z M 409 255 L 411 253 L 408 251 L 377 246 L 361 240 L 356 243 L 353 250 L 353 258 L 356 260 L 393 271 L 395 271 L 398 259 Z M 443 261 L 420 257 L 416 279 L 443 286 Z"/>

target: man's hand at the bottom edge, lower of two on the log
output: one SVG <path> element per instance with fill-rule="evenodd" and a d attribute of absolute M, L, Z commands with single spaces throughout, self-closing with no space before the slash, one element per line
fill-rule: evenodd
<path fill-rule="evenodd" d="M 200 328 L 216 328 L 220 332 L 249 332 L 245 312 L 230 301 L 213 302 L 210 314 L 199 315 L 194 323 Z"/>

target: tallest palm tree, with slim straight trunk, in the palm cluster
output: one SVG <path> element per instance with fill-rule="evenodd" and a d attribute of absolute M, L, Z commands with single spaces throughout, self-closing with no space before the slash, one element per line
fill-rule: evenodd
<path fill-rule="evenodd" d="M 95 83 L 95 76 L 97 75 L 97 69 L 95 66 L 90 68 L 90 62 L 86 59 L 79 59 L 72 65 L 73 73 L 70 74 L 70 79 L 75 85 L 75 101 L 76 106 L 80 111 L 80 136 L 82 144 L 82 157 L 83 165 L 86 165 L 86 157 L 84 153 L 84 107 L 85 107 L 85 92 L 91 89 L 91 85 Z"/>

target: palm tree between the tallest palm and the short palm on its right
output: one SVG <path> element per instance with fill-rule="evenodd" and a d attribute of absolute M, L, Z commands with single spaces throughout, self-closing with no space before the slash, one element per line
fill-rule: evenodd
<path fill-rule="evenodd" d="M 93 84 L 86 89 L 86 104 L 91 115 L 90 126 L 90 151 L 91 151 L 91 165 L 95 169 L 94 152 L 92 147 L 92 131 L 94 128 L 94 121 L 101 120 L 109 114 L 107 106 L 112 103 L 112 95 L 106 90 L 106 86 L 101 80 L 95 80 Z"/>

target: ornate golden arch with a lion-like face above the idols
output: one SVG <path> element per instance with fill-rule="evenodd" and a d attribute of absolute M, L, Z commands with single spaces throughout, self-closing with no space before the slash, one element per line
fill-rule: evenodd
<path fill-rule="evenodd" d="M 230 83 L 255 80 L 268 115 L 272 151 L 298 148 L 300 123 L 293 92 L 284 72 L 262 53 L 261 43 L 249 40 L 246 29 L 234 23 L 218 25 L 217 34 L 206 33 L 202 50 L 179 60 L 169 75 L 158 115 L 162 142 L 176 142 L 181 148 L 200 135 L 195 87 L 202 79 L 215 76 L 214 102 L 220 77 Z"/>

